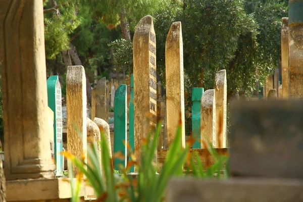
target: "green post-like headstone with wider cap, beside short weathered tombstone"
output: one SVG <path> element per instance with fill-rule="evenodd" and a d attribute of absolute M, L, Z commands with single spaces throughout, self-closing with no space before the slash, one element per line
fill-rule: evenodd
<path fill-rule="evenodd" d="M 201 148 L 201 141 L 200 141 L 201 97 L 203 93 L 204 93 L 204 88 L 192 88 L 191 125 L 192 125 L 192 135 L 195 139 L 192 148 Z"/>

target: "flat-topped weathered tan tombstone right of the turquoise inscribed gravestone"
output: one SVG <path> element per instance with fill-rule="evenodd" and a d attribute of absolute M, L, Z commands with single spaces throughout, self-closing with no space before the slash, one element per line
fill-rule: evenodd
<path fill-rule="evenodd" d="M 87 146 L 86 78 L 83 66 L 68 66 L 66 74 L 67 151 L 85 157 Z M 73 165 L 76 175 L 78 169 Z"/>

